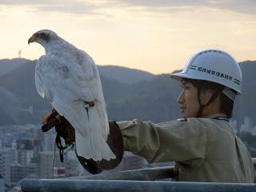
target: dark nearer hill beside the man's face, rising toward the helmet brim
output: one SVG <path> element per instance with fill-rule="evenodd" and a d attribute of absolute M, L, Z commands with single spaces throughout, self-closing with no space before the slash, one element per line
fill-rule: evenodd
<path fill-rule="evenodd" d="M 130 86 L 122 99 L 112 103 L 108 114 L 115 120 L 138 118 L 145 121 L 166 122 L 180 118 L 176 103 L 180 86 L 170 79 L 170 74 L 158 75 L 151 82 L 139 82 Z"/>

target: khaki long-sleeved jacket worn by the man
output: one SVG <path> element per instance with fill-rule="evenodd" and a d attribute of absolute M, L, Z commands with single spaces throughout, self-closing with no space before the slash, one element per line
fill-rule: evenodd
<path fill-rule="evenodd" d="M 175 162 L 180 182 L 254 182 L 254 165 L 229 122 L 187 118 L 118 122 L 126 150 L 148 162 Z"/>

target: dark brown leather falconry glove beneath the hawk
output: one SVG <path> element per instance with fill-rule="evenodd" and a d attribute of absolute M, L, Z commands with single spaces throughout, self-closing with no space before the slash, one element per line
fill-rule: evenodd
<path fill-rule="evenodd" d="M 107 144 L 110 146 L 110 149 L 115 154 L 116 158 L 106 161 L 102 159 L 100 162 L 95 162 L 94 160 L 86 159 L 78 156 L 78 161 L 81 165 L 89 171 L 91 174 L 99 174 L 102 170 L 112 170 L 122 161 L 122 156 L 124 152 L 122 134 L 116 122 L 109 122 L 110 125 L 110 134 L 107 138 Z M 57 136 L 55 139 L 56 145 L 60 149 L 60 158 L 63 161 L 63 149 L 66 146 L 72 145 L 75 142 L 75 131 L 74 127 L 71 126 L 70 122 L 66 120 L 63 116 L 60 116 L 56 110 L 52 110 L 50 114 L 47 114 L 42 119 L 42 132 L 46 132 L 55 126 Z M 61 140 L 59 137 L 64 138 L 66 146 L 62 146 Z M 62 151 L 62 152 L 61 152 Z"/>

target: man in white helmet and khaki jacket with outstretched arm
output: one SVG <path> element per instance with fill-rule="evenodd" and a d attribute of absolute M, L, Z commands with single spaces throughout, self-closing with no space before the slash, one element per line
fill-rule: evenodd
<path fill-rule="evenodd" d="M 180 182 L 254 182 L 251 156 L 229 124 L 242 94 L 238 63 L 222 50 L 203 50 L 170 76 L 181 82 L 183 118 L 118 122 L 125 150 L 148 162 L 174 161 Z"/>

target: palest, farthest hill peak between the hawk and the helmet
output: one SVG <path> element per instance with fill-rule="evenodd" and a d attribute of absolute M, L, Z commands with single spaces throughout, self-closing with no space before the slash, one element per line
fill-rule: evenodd
<path fill-rule="evenodd" d="M 151 81 L 155 77 L 143 70 L 134 70 L 122 66 L 98 66 L 99 73 L 114 80 L 126 84 L 134 84 L 142 81 Z"/>

